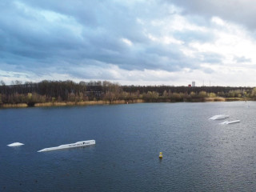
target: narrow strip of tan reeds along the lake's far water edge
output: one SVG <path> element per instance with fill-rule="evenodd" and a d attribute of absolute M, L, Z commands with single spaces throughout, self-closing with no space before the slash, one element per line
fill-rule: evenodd
<path fill-rule="evenodd" d="M 247 98 L 196 98 L 191 99 L 190 101 L 181 101 L 181 102 L 245 102 L 245 101 L 251 101 Z M 27 107 L 50 107 L 50 106 L 94 106 L 94 105 L 114 105 L 114 104 L 130 104 L 130 103 L 142 103 L 146 102 L 142 99 L 134 99 L 134 100 L 117 100 L 117 101 L 86 101 L 86 102 L 44 102 L 44 103 L 34 103 L 34 106 L 29 106 L 27 103 L 18 103 L 18 104 L 3 104 L 0 106 L 1 109 L 9 109 L 9 108 L 27 108 Z M 159 100 L 158 102 L 164 102 L 162 100 Z M 172 101 L 166 101 L 171 102 Z M 146 102 L 150 103 L 150 102 Z M 154 102 L 152 102 L 154 103 Z"/>

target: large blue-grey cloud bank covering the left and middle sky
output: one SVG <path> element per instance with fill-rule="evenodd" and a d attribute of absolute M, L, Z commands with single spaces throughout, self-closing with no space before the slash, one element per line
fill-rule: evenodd
<path fill-rule="evenodd" d="M 187 13 L 207 6 L 198 1 L 195 5 L 174 2 L 186 7 Z M 183 44 L 158 42 L 148 37 L 148 34 L 156 37 L 164 34 L 152 21 L 168 18 L 163 25 L 168 26 L 175 14 L 178 10 L 164 1 L 3 0 L 0 2 L 0 65 L 38 76 L 58 72 L 80 74 L 83 78 L 101 74 L 82 76 L 78 69 L 104 68 L 110 64 L 124 70 L 198 69 L 202 61 L 186 56 L 182 46 L 213 41 L 213 34 L 197 30 L 165 32 Z M 208 25 L 200 17 L 188 20 L 192 24 L 194 20 L 198 25 Z M 206 54 L 203 59 L 219 62 L 221 57 Z"/>

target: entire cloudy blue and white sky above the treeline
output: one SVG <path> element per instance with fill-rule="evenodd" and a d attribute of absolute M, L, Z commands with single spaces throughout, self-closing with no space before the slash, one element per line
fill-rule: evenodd
<path fill-rule="evenodd" d="M 1 0 L 0 80 L 255 86 L 254 0 Z"/>

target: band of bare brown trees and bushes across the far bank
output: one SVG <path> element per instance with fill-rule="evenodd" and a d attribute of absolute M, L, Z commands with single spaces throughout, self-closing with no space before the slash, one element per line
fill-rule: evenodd
<path fill-rule="evenodd" d="M 0 82 L 0 106 L 46 102 L 205 102 L 256 100 L 256 88 L 230 86 L 120 86 L 112 82 Z"/>

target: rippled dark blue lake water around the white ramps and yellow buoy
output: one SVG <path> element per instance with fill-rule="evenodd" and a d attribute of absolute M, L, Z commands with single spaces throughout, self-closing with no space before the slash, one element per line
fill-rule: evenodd
<path fill-rule="evenodd" d="M 255 191 L 255 112 L 256 102 L 0 110 L 0 191 Z"/>

